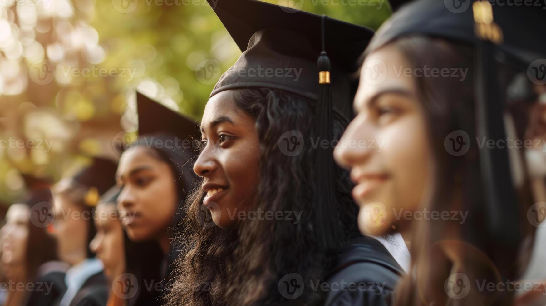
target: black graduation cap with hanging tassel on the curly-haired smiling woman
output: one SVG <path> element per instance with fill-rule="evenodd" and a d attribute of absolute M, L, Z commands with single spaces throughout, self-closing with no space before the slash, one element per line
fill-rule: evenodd
<path fill-rule="evenodd" d="M 314 137 L 320 140 L 333 139 L 334 113 L 347 123 L 353 118 L 359 58 L 372 30 L 261 1 L 208 1 L 243 52 L 218 80 L 211 97 L 225 90 L 265 88 L 311 99 L 317 102 Z M 314 158 L 314 214 L 325 219 L 336 209 L 333 148 L 317 148 Z M 318 239 L 331 236 L 321 231 L 330 229 L 317 228 Z"/>

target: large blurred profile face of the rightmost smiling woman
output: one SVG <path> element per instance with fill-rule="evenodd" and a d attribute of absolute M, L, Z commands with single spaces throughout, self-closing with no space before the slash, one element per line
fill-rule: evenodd
<path fill-rule="evenodd" d="M 404 213 L 419 209 L 430 184 L 431 154 L 416 79 L 396 73 L 411 67 L 392 46 L 372 52 L 360 72 L 357 116 L 334 157 L 357 183 L 360 231 L 384 234 L 407 228 Z"/>

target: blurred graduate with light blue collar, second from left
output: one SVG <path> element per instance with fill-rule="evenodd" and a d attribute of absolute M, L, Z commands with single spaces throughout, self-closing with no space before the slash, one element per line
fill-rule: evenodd
<path fill-rule="evenodd" d="M 89 166 L 52 189 L 57 253 L 70 264 L 64 275 L 67 289 L 56 301 L 61 306 L 106 305 L 110 290 L 103 264 L 95 258 L 89 244 L 96 234 L 94 208 L 100 196 L 114 185 L 116 167 L 113 161 L 92 158 Z"/>

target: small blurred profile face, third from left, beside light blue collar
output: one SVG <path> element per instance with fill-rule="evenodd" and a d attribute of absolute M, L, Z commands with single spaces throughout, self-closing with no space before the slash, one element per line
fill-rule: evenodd
<path fill-rule="evenodd" d="M 124 272 L 123 227 L 116 210 L 116 203 L 99 203 L 94 220 L 97 233 L 89 248 L 104 265 L 104 274 L 110 279 Z"/>

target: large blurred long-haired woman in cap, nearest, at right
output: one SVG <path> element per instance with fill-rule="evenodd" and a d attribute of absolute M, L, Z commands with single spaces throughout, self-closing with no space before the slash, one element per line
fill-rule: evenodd
<path fill-rule="evenodd" d="M 353 196 L 361 231 L 411 233 L 411 273 L 397 286 L 396 305 L 513 303 L 513 290 L 479 285 L 521 278 L 526 241 L 535 231 L 527 220 L 536 198 L 526 165 L 539 165 L 523 158 L 527 149 L 482 148 L 479 142 L 523 142 L 544 126 L 531 120 L 545 114 L 535 113 L 540 100 L 526 74 L 546 54 L 544 43 L 536 43 L 540 35 L 531 31 L 541 27 L 539 14 L 530 7 L 491 9 L 486 1 L 454 14 L 442 2 L 415 1 L 379 28 L 365 52 L 354 102 L 358 115 L 343 140 L 381 138 L 386 145 L 381 152 L 339 145 L 335 157 L 358 183 Z M 474 23 L 480 16 L 494 19 L 496 28 L 485 33 L 496 36 L 482 32 L 476 39 L 474 29 L 484 26 Z M 384 67 L 381 75 L 376 65 Z M 425 75 L 426 67 L 448 68 L 451 77 Z M 403 68 L 419 74 L 400 77 L 396 71 Z M 453 69 L 460 69 L 456 77 Z M 424 209 L 450 217 L 396 217 Z M 453 211 L 461 214 L 453 218 Z M 376 215 L 381 218 L 370 221 Z"/>

